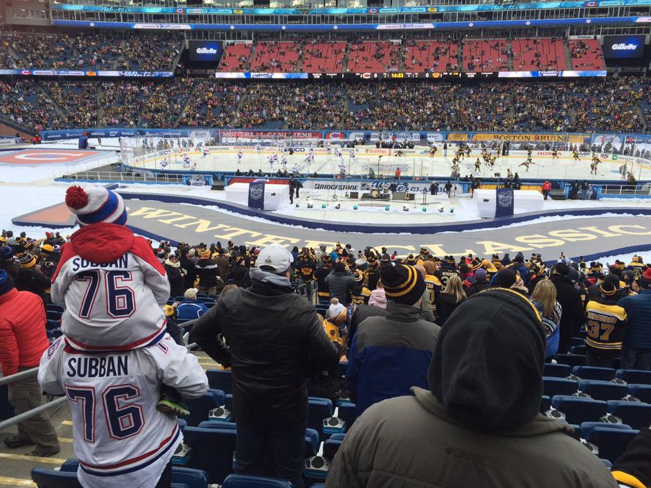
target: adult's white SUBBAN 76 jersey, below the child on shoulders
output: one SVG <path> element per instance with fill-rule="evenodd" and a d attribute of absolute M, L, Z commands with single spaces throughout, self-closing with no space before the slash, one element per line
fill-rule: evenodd
<path fill-rule="evenodd" d="M 161 383 L 201 397 L 208 379 L 199 361 L 168 334 L 136 350 L 88 353 L 62 336 L 43 353 L 38 381 L 66 395 L 78 478 L 87 488 L 153 488 L 183 440 L 176 418 L 156 410 Z"/>

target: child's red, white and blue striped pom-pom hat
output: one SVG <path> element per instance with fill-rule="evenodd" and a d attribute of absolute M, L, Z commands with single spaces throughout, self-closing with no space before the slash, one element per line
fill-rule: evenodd
<path fill-rule="evenodd" d="M 66 190 L 66 206 L 75 215 L 80 226 L 97 224 L 125 225 L 127 210 L 120 195 L 103 186 L 71 186 Z"/>

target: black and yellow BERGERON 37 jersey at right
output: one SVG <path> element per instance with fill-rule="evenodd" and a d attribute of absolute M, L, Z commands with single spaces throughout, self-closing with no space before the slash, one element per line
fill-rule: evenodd
<path fill-rule="evenodd" d="M 601 350 L 620 350 L 626 325 L 626 311 L 615 302 L 591 300 L 585 307 L 585 344 Z"/>

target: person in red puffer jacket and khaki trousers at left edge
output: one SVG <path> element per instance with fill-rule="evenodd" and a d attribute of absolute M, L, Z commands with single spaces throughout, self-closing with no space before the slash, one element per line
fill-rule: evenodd
<path fill-rule="evenodd" d="M 49 347 L 45 333 L 43 301 L 29 291 L 18 291 L 4 270 L 0 270 L 0 369 L 4 376 L 36 368 Z M 9 383 L 9 403 L 16 415 L 41 404 L 41 387 L 36 374 Z M 36 445 L 30 455 L 49 456 L 59 452 L 57 434 L 46 413 L 18 424 L 18 433 L 6 437 L 7 447 Z"/>

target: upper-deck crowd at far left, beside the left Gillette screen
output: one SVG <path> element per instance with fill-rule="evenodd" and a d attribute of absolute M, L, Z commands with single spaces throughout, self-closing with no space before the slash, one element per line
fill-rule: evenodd
<path fill-rule="evenodd" d="M 1 33 L 0 44 L 2 68 L 170 71 L 181 52 L 175 33 L 14 31 Z"/>

